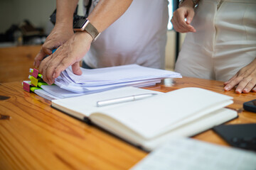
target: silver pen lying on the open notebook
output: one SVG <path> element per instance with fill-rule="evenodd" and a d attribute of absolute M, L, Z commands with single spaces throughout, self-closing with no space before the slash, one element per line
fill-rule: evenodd
<path fill-rule="evenodd" d="M 112 98 L 112 99 L 108 99 L 105 101 L 97 101 L 96 105 L 97 105 L 97 107 L 101 107 L 101 106 L 107 106 L 107 105 L 112 105 L 112 104 L 117 104 L 117 103 L 123 103 L 123 102 L 127 102 L 127 101 L 137 101 L 139 99 L 147 98 L 147 97 L 154 96 L 154 95 L 156 95 L 156 94 L 138 94 L 138 95 L 126 96 L 126 97 L 122 97 L 122 98 Z"/>

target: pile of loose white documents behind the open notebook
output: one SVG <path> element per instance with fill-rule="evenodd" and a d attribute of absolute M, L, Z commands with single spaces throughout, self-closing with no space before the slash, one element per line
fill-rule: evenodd
<path fill-rule="evenodd" d="M 83 69 L 82 75 L 73 74 L 68 67 L 55 79 L 55 85 L 41 85 L 34 91 L 38 96 L 49 100 L 68 98 L 83 94 L 92 94 L 124 86 L 152 86 L 161 79 L 181 78 L 181 74 L 163 69 L 142 67 L 137 64 L 105 67 L 100 69 Z M 47 97 L 48 96 L 48 97 Z"/>

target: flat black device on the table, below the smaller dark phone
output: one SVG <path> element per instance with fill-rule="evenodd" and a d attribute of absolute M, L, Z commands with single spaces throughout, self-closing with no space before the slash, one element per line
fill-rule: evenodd
<path fill-rule="evenodd" d="M 233 147 L 256 152 L 256 123 L 218 125 L 213 131 Z"/>

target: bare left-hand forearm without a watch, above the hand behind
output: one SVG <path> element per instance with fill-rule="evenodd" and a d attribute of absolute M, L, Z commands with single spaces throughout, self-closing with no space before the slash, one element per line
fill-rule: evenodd
<path fill-rule="evenodd" d="M 56 23 L 55 26 L 70 26 L 73 29 L 73 13 L 78 0 L 56 0 Z"/>

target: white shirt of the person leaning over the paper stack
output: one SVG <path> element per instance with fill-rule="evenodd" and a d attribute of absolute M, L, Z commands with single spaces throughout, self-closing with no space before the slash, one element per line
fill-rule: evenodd
<path fill-rule="evenodd" d="M 96 4 L 97 0 L 93 0 L 92 8 Z M 164 69 L 168 19 L 167 0 L 134 0 L 127 11 L 92 42 L 83 60 L 92 68 L 139 64 Z"/>

